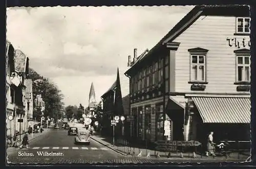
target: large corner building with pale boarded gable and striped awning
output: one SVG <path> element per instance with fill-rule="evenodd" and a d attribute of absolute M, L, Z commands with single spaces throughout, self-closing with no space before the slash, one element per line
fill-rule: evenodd
<path fill-rule="evenodd" d="M 249 140 L 249 26 L 247 6 L 196 6 L 131 65 L 133 134 L 203 142 L 214 131 L 216 140 Z"/>

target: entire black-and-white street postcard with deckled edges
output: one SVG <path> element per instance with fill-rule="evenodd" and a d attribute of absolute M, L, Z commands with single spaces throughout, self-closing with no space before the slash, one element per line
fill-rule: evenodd
<path fill-rule="evenodd" d="M 251 161 L 248 5 L 6 15 L 7 164 Z"/>

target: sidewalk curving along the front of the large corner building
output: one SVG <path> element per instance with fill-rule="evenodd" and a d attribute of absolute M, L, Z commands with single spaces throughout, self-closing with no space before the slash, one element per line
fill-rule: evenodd
<path fill-rule="evenodd" d="M 168 158 L 168 152 L 161 152 L 161 151 L 155 151 L 155 150 L 150 150 L 150 149 L 145 149 L 145 148 L 138 148 L 138 147 L 129 147 L 129 146 L 121 146 L 117 142 L 115 143 L 115 146 L 113 146 L 113 138 L 108 138 L 104 136 L 99 136 L 99 135 L 94 135 L 91 136 L 91 138 L 104 146 L 114 150 L 115 152 L 125 155 L 125 156 L 131 156 L 131 157 L 149 157 L 149 158 L 161 158 L 161 159 L 174 159 L 178 158 L 181 159 L 194 159 L 195 156 L 197 159 L 202 159 L 202 160 L 209 160 L 209 159 L 214 159 L 214 160 L 233 160 L 233 161 L 245 161 L 249 156 L 250 152 L 245 152 L 245 153 L 237 153 L 233 152 L 230 154 L 230 157 L 221 157 L 221 156 L 205 156 L 200 153 L 193 154 L 193 152 L 183 152 L 181 153 L 180 151 L 176 152 L 170 152 L 169 158 Z M 129 145 L 129 144 L 126 144 Z M 139 155 L 139 156 L 138 156 Z"/>

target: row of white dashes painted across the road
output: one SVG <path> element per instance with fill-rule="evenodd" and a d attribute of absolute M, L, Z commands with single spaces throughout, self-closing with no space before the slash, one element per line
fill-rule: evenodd
<path fill-rule="evenodd" d="M 108 148 L 101 147 L 31 147 L 32 150 L 38 150 L 38 149 L 50 149 L 50 150 L 109 150 Z"/>

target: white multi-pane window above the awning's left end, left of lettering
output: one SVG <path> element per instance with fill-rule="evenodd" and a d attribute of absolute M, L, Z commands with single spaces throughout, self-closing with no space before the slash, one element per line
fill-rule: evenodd
<path fill-rule="evenodd" d="M 205 82 L 205 55 L 191 55 L 190 81 Z"/>

